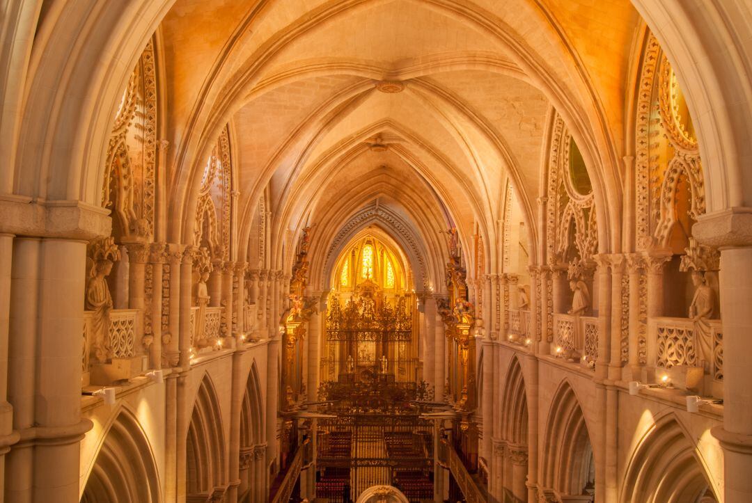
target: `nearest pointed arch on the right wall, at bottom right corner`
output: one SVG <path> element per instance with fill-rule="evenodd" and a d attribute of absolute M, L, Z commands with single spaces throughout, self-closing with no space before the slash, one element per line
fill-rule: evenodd
<path fill-rule="evenodd" d="M 673 414 L 643 435 L 626 468 L 623 503 L 719 501 L 694 442 Z"/>

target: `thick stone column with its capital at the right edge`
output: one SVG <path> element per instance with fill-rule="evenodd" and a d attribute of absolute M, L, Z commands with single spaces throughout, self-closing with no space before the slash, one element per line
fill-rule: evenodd
<path fill-rule="evenodd" d="M 704 215 L 693 227 L 700 244 L 720 248 L 723 320 L 723 426 L 711 430 L 723 448 L 724 501 L 752 501 L 752 209 Z"/>

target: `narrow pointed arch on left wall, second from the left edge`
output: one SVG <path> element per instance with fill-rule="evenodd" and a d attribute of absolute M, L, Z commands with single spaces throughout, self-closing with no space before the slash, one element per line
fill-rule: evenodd
<path fill-rule="evenodd" d="M 204 375 L 193 404 L 186 441 L 186 495 L 210 498 L 224 492 L 225 438 L 220 403 L 211 377 Z"/>

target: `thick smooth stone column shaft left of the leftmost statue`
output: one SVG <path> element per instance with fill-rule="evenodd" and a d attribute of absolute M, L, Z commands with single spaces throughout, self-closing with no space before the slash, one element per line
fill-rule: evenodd
<path fill-rule="evenodd" d="M 36 316 L 32 501 L 78 501 L 86 242 L 44 238 Z M 65 376 L 64 379 L 61 376 Z"/>

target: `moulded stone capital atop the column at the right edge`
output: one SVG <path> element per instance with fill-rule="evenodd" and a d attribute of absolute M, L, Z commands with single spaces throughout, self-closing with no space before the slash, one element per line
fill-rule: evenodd
<path fill-rule="evenodd" d="M 692 235 L 711 247 L 752 246 L 752 208 L 729 208 L 699 217 Z"/>

